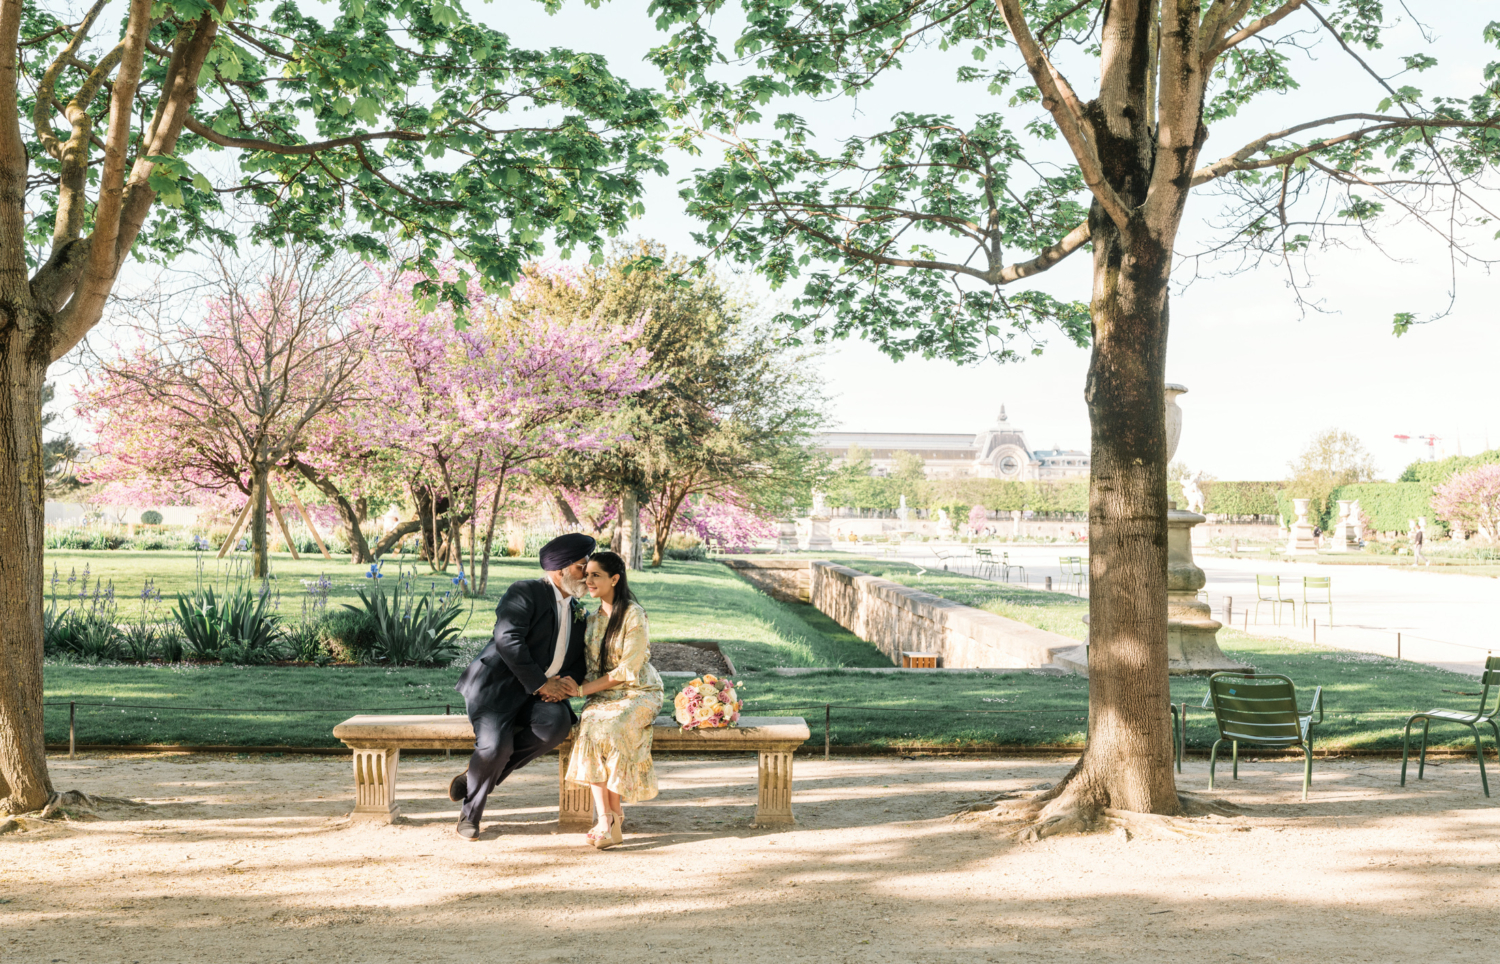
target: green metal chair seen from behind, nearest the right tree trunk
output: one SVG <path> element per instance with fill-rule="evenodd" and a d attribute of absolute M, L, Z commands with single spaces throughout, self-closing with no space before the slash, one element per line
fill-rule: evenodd
<path fill-rule="evenodd" d="M 1298 690 L 1290 678 L 1276 673 L 1214 673 L 1209 676 L 1208 705 L 1220 738 L 1209 751 L 1209 790 L 1214 789 L 1214 768 L 1218 748 L 1228 742 L 1234 754 L 1234 780 L 1239 780 L 1239 745 L 1296 747 L 1305 757 L 1302 768 L 1302 801 L 1312 784 L 1312 727 L 1323 723 L 1323 687 L 1312 693 L 1312 703 L 1304 714 L 1298 709 Z M 1317 720 L 1312 714 L 1317 714 Z"/>

